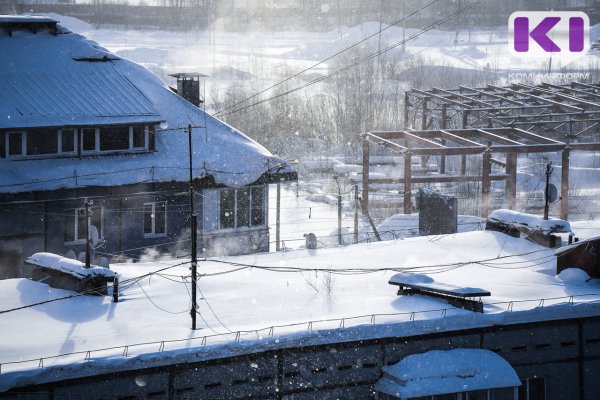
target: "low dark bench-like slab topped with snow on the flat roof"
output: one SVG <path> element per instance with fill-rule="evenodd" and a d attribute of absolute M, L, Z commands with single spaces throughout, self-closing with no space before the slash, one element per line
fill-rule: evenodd
<path fill-rule="evenodd" d="M 388 283 L 398 286 L 398 295 L 422 294 L 436 297 L 448 301 L 454 307 L 480 313 L 483 313 L 481 297 L 491 296 L 484 289 L 435 282 L 427 275 L 400 273 L 392 276 Z"/>

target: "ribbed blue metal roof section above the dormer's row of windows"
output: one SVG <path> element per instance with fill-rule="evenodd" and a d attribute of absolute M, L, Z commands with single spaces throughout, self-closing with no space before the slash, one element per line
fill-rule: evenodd
<path fill-rule="evenodd" d="M 4 38 L 3 42 L 9 47 L 20 44 L 19 38 Z M 159 121 L 150 100 L 116 67 L 123 61 L 102 59 L 98 54 L 103 53 L 90 50 L 88 59 L 92 61 L 76 60 L 82 57 L 75 49 L 60 62 L 54 57 L 48 63 L 44 63 L 43 51 L 40 57 L 24 51 L 4 53 L 0 128 Z"/>

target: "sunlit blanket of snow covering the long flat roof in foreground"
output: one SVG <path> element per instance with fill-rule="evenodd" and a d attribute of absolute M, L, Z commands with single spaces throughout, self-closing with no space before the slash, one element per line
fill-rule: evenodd
<path fill-rule="evenodd" d="M 179 265 L 185 260 L 117 264 L 112 269 L 121 275 L 119 303 L 109 297 L 74 297 L 0 314 L 0 390 L 20 379 L 19 370 L 50 374 L 37 369 L 40 357 L 136 343 L 155 344 L 130 347 L 129 358 L 122 357 L 123 347 L 95 351 L 90 355 L 94 362 L 84 363 L 85 367 L 81 364 L 85 353 L 46 359 L 44 366 L 74 363 L 68 367 L 72 374 L 86 374 L 102 366 L 111 370 L 135 366 L 141 361 L 132 356 L 141 353 L 147 354 L 144 362 L 160 363 L 169 357 L 156 353 L 161 341 L 181 339 L 165 345 L 165 350 L 181 352 L 200 346 L 201 341 L 192 338 L 216 334 L 224 336 L 209 337 L 208 346 L 194 350 L 194 357 L 259 351 L 284 343 L 458 329 L 514 318 L 558 318 L 578 310 L 597 313 L 597 306 L 580 305 L 597 301 L 600 294 L 577 295 L 598 293 L 600 282 L 570 284 L 556 278 L 553 254 L 554 250 L 525 240 L 483 231 L 211 259 L 199 266 L 201 319 L 195 332 L 190 331 L 190 284 L 185 278 L 189 269 Z M 163 268 L 168 269 L 136 280 Z M 485 314 L 455 309 L 435 298 L 399 297 L 388 284 L 397 272 L 428 274 L 436 282 L 479 287 L 492 295 L 485 298 Z M 2 310 L 70 294 L 27 279 L 0 281 Z M 574 306 L 568 304 L 569 296 L 575 296 Z M 541 298 L 553 300 L 538 309 Z M 513 312 L 507 312 L 508 302 L 515 300 L 531 301 L 514 303 Z M 443 309 L 449 310 L 445 316 Z M 346 319 L 346 329 L 337 330 L 341 318 Z M 315 322 L 311 333 L 309 321 L 322 322 Z M 269 338 L 273 326 L 274 338 Z M 331 329 L 333 333 L 326 333 Z M 235 342 L 238 331 L 241 343 Z M 35 361 L 7 364 L 20 360 Z"/>

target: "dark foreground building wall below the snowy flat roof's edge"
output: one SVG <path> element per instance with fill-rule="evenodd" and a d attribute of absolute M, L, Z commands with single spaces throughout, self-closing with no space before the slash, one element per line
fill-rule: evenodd
<path fill-rule="evenodd" d="M 434 349 L 483 347 L 509 361 L 521 379 L 544 377 L 547 400 L 595 400 L 600 396 L 594 341 L 599 333 L 600 317 L 594 317 L 288 348 L 197 363 L 175 360 L 166 367 L 25 387 L 0 398 L 367 400 L 374 399 L 373 385 L 383 365 Z M 575 346 L 562 345 L 573 341 Z"/>

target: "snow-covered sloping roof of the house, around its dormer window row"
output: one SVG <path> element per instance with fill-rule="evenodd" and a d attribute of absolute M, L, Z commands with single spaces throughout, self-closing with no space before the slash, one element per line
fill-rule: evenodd
<path fill-rule="evenodd" d="M 294 173 L 254 140 L 174 94 L 147 69 L 65 28 L 59 32 L 0 35 L 5 55 L 0 129 L 159 121 L 168 128 L 157 129 L 155 152 L 135 156 L 0 158 L 0 193 L 186 181 L 188 126 L 193 127 L 196 177 L 210 175 L 217 184 L 239 187 L 267 172 Z"/>

